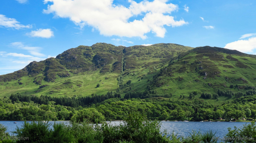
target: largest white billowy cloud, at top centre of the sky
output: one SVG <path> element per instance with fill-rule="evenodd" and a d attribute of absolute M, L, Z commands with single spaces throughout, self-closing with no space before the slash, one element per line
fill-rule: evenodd
<path fill-rule="evenodd" d="M 53 13 L 55 17 L 69 18 L 80 28 L 92 26 L 104 36 L 138 36 L 145 39 L 148 32 L 164 37 L 167 26 L 188 24 L 184 20 L 175 21 L 170 16 L 178 6 L 167 3 L 168 0 L 144 0 L 137 3 L 128 0 L 130 6 L 114 5 L 113 0 L 44 0 L 51 2 L 45 14 Z M 133 17 L 143 16 L 140 20 L 129 21 Z"/>

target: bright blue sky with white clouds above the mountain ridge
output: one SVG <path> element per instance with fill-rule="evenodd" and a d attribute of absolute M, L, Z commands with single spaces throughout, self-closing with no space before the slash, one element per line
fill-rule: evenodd
<path fill-rule="evenodd" d="M 97 42 L 256 54 L 255 7 L 255 0 L 2 0 L 0 75 Z"/>

